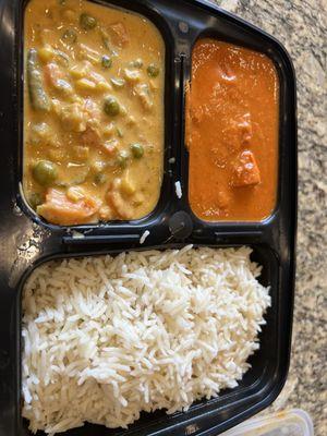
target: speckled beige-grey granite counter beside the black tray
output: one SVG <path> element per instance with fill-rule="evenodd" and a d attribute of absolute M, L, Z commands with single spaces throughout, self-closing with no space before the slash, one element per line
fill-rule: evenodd
<path fill-rule="evenodd" d="M 277 37 L 295 65 L 299 230 L 289 378 L 271 410 L 301 408 L 327 435 L 327 0 L 222 0 L 223 9 Z M 325 33 L 325 34 L 324 34 Z"/>

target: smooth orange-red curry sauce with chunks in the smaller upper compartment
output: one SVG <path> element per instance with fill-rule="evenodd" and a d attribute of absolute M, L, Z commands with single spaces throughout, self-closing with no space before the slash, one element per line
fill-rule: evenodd
<path fill-rule="evenodd" d="M 192 53 L 189 198 L 207 221 L 267 218 L 278 177 L 279 82 L 265 55 L 215 39 Z"/>

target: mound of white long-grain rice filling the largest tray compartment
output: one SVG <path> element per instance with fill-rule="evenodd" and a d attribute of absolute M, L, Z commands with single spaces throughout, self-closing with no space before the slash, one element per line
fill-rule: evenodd
<path fill-rule="evenodd" d="M 49 434 L 126 427 L 233 388 L 270 304 L 247 247 L 50 262 L 23 296 L 23 415 Z"/>

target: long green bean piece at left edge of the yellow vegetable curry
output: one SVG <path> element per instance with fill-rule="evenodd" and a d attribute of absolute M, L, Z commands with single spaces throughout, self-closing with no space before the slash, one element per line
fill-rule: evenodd
<path fill-rule="evenodd" d="M 48 112 L 50 110 L 50 99 L 44 88 L 37 50 L 34 48 L 31 48 L 27 52 L 27 82 L 33 109 Z"/>

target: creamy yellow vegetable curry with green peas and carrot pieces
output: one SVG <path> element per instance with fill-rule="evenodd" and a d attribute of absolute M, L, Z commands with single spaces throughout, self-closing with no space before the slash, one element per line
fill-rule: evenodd
<path fill-rule="evenodd" d="M 24 193 L 56 225 L 131 220 L 162 180 L 165 44 L 147 19 L 77 0 L 25 11 Z"/>

